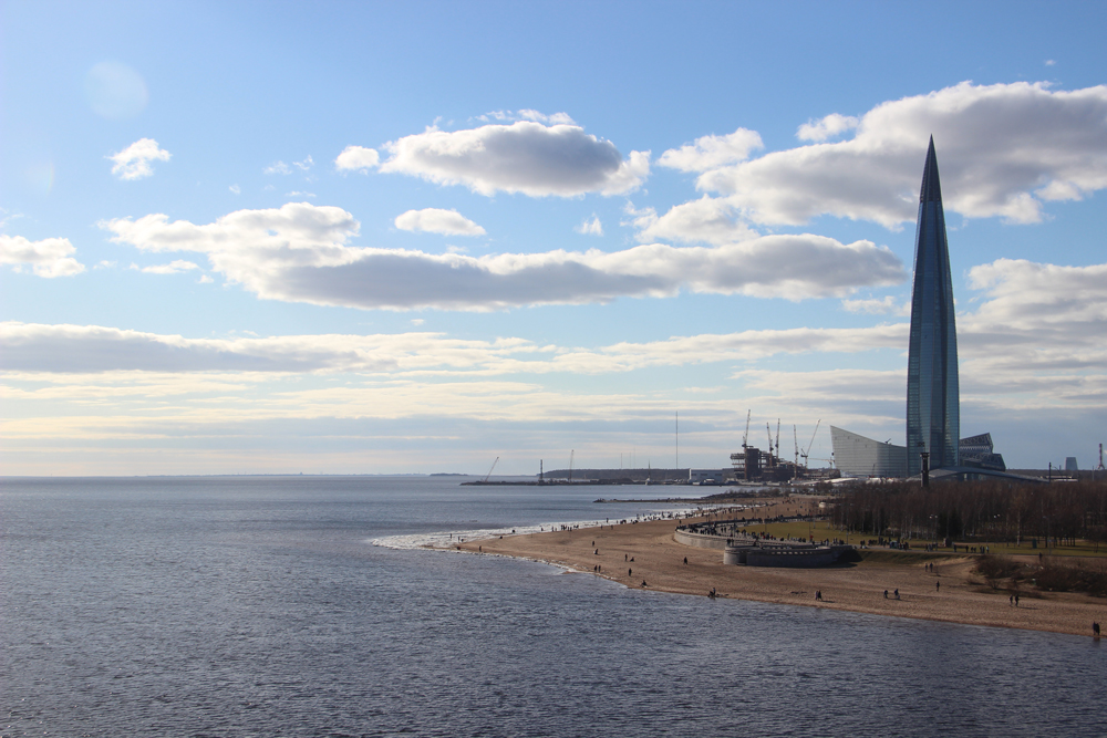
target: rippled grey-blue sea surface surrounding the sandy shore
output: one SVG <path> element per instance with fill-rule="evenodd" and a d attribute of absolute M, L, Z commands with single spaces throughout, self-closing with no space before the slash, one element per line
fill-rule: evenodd
<path fill-rule="evenodd" d="M 372 543 L 662 509 L 458 481 L 0 480 L 0 735 L 1107 735 L 1089 638 Z"/>

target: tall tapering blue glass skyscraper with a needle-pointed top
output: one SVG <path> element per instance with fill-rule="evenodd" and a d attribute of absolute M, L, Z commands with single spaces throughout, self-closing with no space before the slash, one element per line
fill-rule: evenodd
<path fill-rule="evenodd" d="M 919 194 L 914 235 L 914 290 L 907 364 L 908 474 L 922 468 L 958 466 L 961 399 L 958 387 L 958 332 L 953 318 L 950 247 L 945 238 L 942 185 L 938 178 L 934 137 L 930 137 Z"/>

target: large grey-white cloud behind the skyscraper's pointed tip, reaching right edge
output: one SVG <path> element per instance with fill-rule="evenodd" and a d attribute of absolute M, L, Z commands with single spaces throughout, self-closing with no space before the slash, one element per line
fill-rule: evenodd
<path fill-rule="evenodd" d="M 848 123 L 827 116 L 803 131 L 818 139 Z M 963 82 L 882 103 L 848 141 L 704 170 L 696 185 L 724 195 L 753 222 L 832 215 L 894 228 L 917 216 L 931 134 L 948 211 L 1037 222 L 1045 202 L 1107 187 L 1107 86 L 1055 92 L 1025 82 Z"/>

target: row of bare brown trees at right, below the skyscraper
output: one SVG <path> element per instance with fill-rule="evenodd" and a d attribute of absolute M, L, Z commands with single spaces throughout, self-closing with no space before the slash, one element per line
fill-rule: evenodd
<path fill-rule="evenodd" d="M 886 482 L 839 489 L 829 511 L 835 524 L 878 537 L 972 542 L 1048 538 L 1107 543 L 1107 482 L 1052 485 L 1007 481 Z"/>

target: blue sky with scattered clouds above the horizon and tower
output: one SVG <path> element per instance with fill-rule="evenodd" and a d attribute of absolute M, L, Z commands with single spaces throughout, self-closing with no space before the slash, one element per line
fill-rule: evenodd
<path fill-rule="evenodd" d="M 902 444 L 931 135 L 961 435 L 1089 468 L 1104 28 L 1103 3 L 0 2 L 0 474 L 720 468 L 747 414 L 817 466 L 831 424 Z"/>

